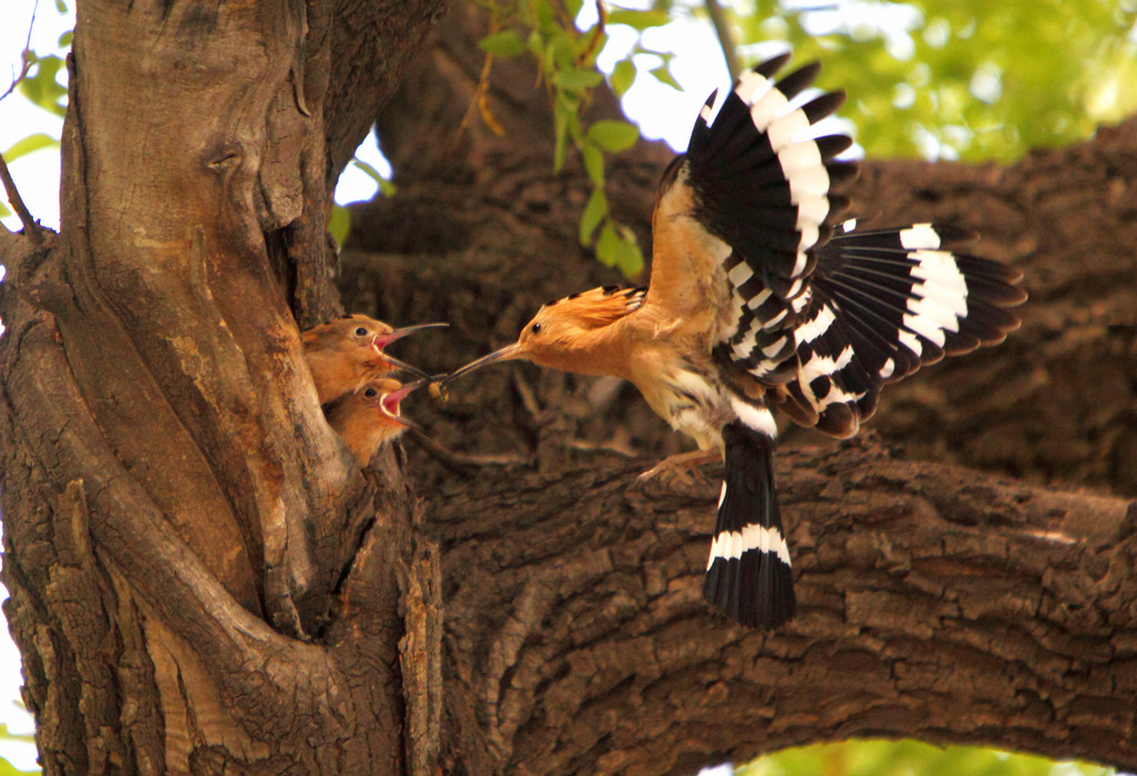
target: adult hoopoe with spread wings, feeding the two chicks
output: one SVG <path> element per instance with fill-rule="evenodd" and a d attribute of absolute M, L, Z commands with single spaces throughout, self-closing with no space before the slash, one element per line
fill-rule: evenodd
<path fill-rule="evenodd" d="M 885 383 L 1001 342 L 1019 324 L 1004 308 L 1026 299 L 1016 270 L 951 250 L 968 237 L 962 231 L 836 225 L 848 207 L 837 192 L 856 168 L 833 157 L 852 140 L 818 136 L 812 125 L 844 93 L 795 100 L 819 66 L 774 82 L 788 58 L 739 78 L 713 123 L 715 95 L 706 101 L 656 193 L 647 289 L 595 289 L 546 304 L 514 344 L 450 376 L 507 359 L 614 375 L 699 447 L 646 476 L 721 452 L 703 594 L 763 628 L 796 611 L 770 406 L 852 436 Z"/>

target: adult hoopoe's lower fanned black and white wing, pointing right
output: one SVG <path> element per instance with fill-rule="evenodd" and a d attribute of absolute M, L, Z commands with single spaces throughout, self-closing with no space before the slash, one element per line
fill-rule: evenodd
<path fill-rule="evenodd" d="M 854 226 L 816 251 L 811 287 L 792 302 L 800 323 L 787 409 L 833 436 L 856 433 L 886 383 L 1002 342 L 1019 325 L 1006 308 L 1027 298 L 1018 270 L 953 250 L 971 239 L 966 232 Z"/>

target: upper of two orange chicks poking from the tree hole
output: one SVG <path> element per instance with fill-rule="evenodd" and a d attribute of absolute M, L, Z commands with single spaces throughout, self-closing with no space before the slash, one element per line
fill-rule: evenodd
<path fill-rule="evenodd" d="M 367 381 L 396 369 L 404 369 L 417 377 L 429 377 L 423 370 L 385 353 L 383 349 L 408 334 L 446 325 L 422 324 L 391 328 L 382 320 L 356 314 L 301 333 L 304 354 L 316 383 L 319 403 L 335 401 L 346 393 L 358 391 Z"/>

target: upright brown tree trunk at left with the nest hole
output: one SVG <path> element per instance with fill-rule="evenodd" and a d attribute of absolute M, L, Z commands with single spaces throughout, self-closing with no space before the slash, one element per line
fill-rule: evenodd
<path fill-rule="evenodd" d="M 3 244 L 6 611 L 48 773 L 437 752 L 404 740 L 414 501 L 327 427 L 293 319 L 337 309 L 327 158 L 366 131 L 325 137 L 332 23 L 381 33 L 374 109 L 440 5 L 349 10 L 78 8 L 63 227 Z"/>

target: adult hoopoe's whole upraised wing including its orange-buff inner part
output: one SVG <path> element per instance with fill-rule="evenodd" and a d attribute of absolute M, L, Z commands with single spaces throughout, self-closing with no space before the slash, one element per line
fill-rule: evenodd
<path fill-rule="evenodd" d="M 807 287 L 811 251 L 847 207 L 835 186 L 856 172 L 833 160 L 849 137 L 818 137 L 813 130 L 844 93 L 795 101 L 820 68 L 773 81 L 788 59 L 739 78 L 713 123 L 715 95 L 704 106 L 687 153 L 659 186 L 647 297 L 647 306 L 677 317 L 709 310 L 719 361 L 767 384 L 788 378 L 783 365 L 797 325 L 790 301 Z"/>

